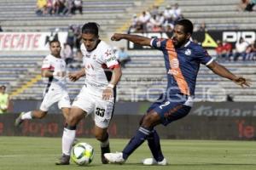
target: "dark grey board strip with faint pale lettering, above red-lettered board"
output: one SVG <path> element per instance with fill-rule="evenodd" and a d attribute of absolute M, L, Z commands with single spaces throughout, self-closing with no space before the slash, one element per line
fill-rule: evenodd
<path fill-rule="evenodd" d="M 13 112 L 20 113 L 26 111 L 27 108 L 36 110 L 40 106 L 41 100 L 14 100 L 13 103 Z M 114 114 L 143 115 L 150 105 L 150 102 L 117 102 Z M 58 105 L 52 105 L 49 112 L 59 113 Z M 195 102 L 189 115 L 256 117 L 256 104 L 253 102 Z"/>

